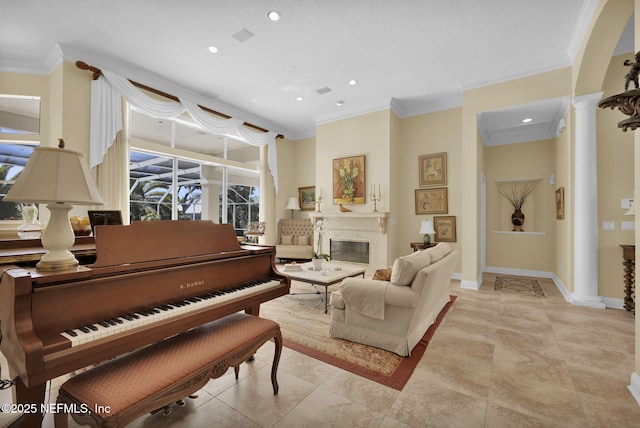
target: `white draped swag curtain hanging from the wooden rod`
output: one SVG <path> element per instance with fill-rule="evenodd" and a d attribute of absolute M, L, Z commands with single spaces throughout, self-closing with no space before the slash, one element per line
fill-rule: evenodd
<path fill-rule="evenodd" d="M 275 132 L 253 131 L 245 127 L 240 119 L 214 117 L 196 103 L 181 97 L 178 97 L 179 102 L 155 100 L 141 92 L 126 78 L 108 70 L 102 70 L 102 76 L 92 84 L 91 148 L 89 153 L 91 168 L 103 163 L 109 148 L 114 144 L 116 135 L 122 130 L 120 97 L 151 116 L 172 119 L 187 111 L 200 126 L 213 134 L 221 135 L 235 131 L 248 144 L 260 147 L 267 146 L 267 163 L 273 178 L 275 192 L 278 192 Z"/>

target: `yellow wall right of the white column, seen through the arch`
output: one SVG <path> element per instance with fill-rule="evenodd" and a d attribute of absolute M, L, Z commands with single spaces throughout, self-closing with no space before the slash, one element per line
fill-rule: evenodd
<path fill-rule="evenodd" d="M 605 77 L 603 97 L 624 91 L 624 75 L 628 67 L 625 59 L 633 54 L 616 56 L 611 59 Z M 622 299 L 624 297 L 622 249 L 620 244 L 633 245 L 634 231 L 621 230 L 621 222 L 635 222 L 634 216 L 624 215 L 620 208 L 622 198 L 633 198 L 633 132 L 623 132 L 618 122 L 628 116 L 620 110 L 598 109 L 598 288 L 599 294 Z M 579 215 L 580 213 L 576 213 Z M 602 222 L 614 222 L 615 230 L 602 230 Z"/>

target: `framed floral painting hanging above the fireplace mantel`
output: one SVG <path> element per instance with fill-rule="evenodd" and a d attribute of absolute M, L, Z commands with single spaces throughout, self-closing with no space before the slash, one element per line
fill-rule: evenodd
<path fill-rule="evenodd" d="M 333 204 L 364 204 L 364 155 L 333 160 Z"/>

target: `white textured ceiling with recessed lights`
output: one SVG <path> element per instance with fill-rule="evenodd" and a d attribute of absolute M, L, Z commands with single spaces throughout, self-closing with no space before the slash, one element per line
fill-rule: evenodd
<path fill-rule="evenodd" d="M 317 123 L 454 107 L 462 90 L 569 66 L 596 4 L 0 0 L 0 71 L 48 73 L 61 49 L 298 139 Z M 253 36 L 241 42 L 245 29 Z"/>

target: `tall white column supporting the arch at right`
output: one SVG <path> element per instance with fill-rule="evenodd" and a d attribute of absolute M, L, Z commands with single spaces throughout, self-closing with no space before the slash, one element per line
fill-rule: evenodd
<path fill-rule="evenodd" d="M 598 174 L 596 152 L 596 106 L 602 92 L 574 98 L 575 207 L 574 287 L 572 303 L 605 308 L 598 296 Z"/>

